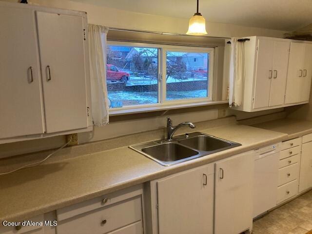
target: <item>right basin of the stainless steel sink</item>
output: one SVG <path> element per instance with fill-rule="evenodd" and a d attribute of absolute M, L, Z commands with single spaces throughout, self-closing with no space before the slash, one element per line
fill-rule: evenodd
<path fill-rule="evenodd" d="M 180 144 L 200 151 L 215 151 L 231 146 L 231 143 L 206 135 L 186 138 L 178 141 Z"/>

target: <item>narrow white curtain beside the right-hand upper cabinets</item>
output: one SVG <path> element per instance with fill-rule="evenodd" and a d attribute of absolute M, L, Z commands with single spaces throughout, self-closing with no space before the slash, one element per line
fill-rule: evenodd
<path fill-rule="evenodd" d="M 245 80 L 244 42 L 231 39 L 231 61 L 229 78 L 229 105 L 240 106 L 243 96 L 243 81 Z"/>

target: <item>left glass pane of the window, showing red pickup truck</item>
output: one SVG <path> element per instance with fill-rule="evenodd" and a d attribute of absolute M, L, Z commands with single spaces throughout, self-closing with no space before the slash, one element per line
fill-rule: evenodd
<path fill-rule="evenodd" d="M 158 102 L 158 49 L 107 46 L 110 108 Z"/>

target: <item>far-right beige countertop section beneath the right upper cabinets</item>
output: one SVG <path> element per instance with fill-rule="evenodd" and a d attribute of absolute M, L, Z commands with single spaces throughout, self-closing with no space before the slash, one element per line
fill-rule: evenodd
<path fill-rule="evenodd" d="M 252 126 L 274 132 L 286 133 L 288 135 L 288 139 L 293 139 L 312 133 L 312 121 L 292 118 L 276 119 L 268 122 L 254 124 Z"/>

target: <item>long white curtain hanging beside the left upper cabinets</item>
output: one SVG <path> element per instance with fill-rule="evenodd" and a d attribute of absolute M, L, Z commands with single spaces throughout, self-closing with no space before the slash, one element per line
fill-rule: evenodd
<path fill-rule="evenodd" d="M 108 124 L 108 97 L 106 87 L 106 35 L 105 26 L 89 24 L 89 56 L 93 124 Z"/>

